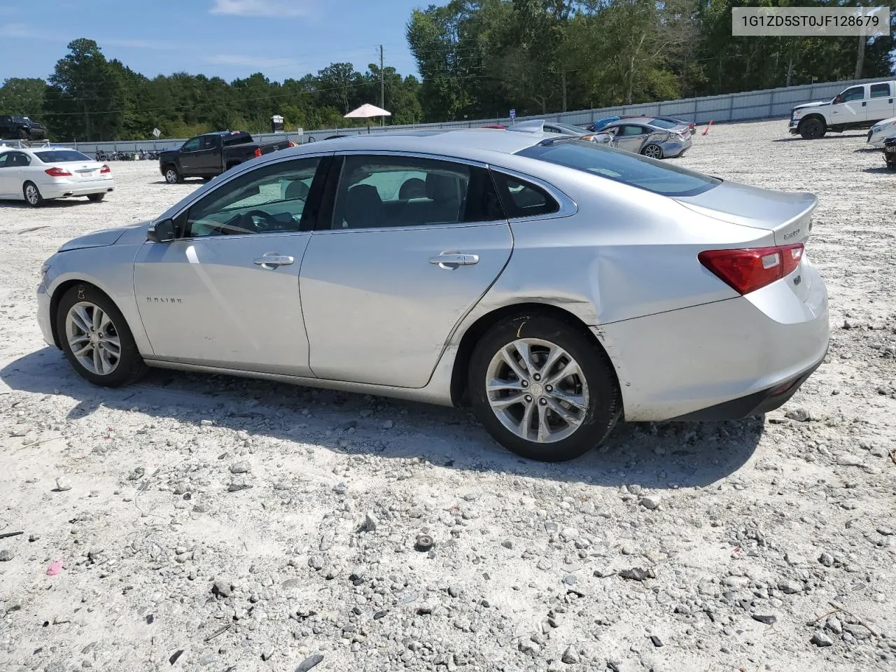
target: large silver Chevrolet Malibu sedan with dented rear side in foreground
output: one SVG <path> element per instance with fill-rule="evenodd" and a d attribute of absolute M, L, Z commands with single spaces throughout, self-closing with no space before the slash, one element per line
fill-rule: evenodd
<path fill-rule="evenodd" d="M 564 460 L 619 418 L 788 400 L 828 345 L 815 205 L 562 135 L 334 139 L 66 243 L 39 324 L 100 385 L 162 366 L 469 402 Z"/>

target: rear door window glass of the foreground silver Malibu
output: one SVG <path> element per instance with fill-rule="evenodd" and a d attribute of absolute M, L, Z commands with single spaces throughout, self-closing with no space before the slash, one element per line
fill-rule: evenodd
<path fill-rule="evenodd" d="M 413 227 L 504 219 L 485 168 L 405 156 L 345 158 L 331 227 Z"/>

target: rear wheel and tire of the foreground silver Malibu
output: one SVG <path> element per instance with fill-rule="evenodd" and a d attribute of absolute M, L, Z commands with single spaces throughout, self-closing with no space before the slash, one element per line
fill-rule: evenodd
<path fill-rule="evenodd" d="M 520 366 L 526 350 L 535 369 L 531 372 Z M 513 373 L 502 353 L 513 357 L 522 376 Z M 546 374 L 540 367 L 551 353 L 560 358 L 547 365 Z M 558 375 L 559 367 L 569 366 L 571 361 L 578 364 L 579 373 L 556 379 L 552 390 L 546 383 L 548 374 Z M 503 381 L 508 387 L 489 391 L 487 380 Z M 589 452 L 607 439 L 622 415 L 616 375 L 604 352 L 570 323 L 546 315 L 519 314 L 495 324 L 473 350 L 467 384 L 473 410 L 487 432 L 508 450 L 530 460 L 572 460 Z M 520 401 L 507 404 L 510 398 Z M 577 409 L 570 401 L 582 407 Z M 493 403 L 504 408 L 493 408 Z M 531 415 L 523 436 L 520 426 L 526 409 Z M 539 439 L 541 427 L 547 434 Z"/>

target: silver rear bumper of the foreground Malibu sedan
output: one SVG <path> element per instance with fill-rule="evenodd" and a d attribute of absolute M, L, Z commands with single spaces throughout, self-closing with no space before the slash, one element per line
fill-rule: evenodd
<path fill-rule="evenodd" d="M 742 418 L 787 401 L 830 338 L 821 276 L 806 257 L 798 275 L 798 286 L 792 274 L 745 297 L 593 328 L 625 419 Z"/>

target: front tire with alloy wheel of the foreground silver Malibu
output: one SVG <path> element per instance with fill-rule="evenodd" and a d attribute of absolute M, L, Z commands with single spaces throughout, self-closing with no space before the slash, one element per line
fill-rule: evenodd
<path fill-rule="evenodd" d="M 108 317 L 108 322 L 100 319 L 102 316 Z M 94 332 L 98 319 L 101 326 Z M 125 316 L 109 297 L 90 284 L 75 285 L 59 300 L 56 335 L 74 370 L 90 383 L 118 387 L 133 383 L 146 373 Z M 78 355 L 74 347 L 82 348 Z"/>

